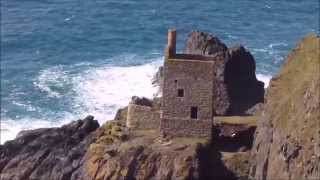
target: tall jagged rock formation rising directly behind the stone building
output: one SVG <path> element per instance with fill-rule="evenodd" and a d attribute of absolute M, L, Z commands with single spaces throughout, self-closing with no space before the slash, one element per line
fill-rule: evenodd
<path fill-rule="evenodd" d="M 222 56 L 214 61 L 214 111 L 216 115 L 252 114 L 257 103 L 264 100 L 264 83 L 255 75 L 255 60 L 243 46 L 227 48 L 217 37 L 192 31 L 184 52 L 194 55 Z M 163 68 L 154 77 L 154 84 L 163 84 Z"/>

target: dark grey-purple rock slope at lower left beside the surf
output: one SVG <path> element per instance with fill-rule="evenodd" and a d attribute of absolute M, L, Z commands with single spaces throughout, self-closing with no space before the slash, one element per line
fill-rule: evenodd
<path fill-rule="evenodd" d="M 72 179 L 99 127 L 92 116 L 19 133 L 0 146 L 0 179 Z"/>

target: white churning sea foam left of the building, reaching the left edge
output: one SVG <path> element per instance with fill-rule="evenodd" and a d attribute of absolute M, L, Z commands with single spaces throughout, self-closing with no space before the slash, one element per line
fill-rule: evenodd
<path fill-rule="evenodd" d="M 152 78 L 162 63 L 162 57 L 152 63 L 130 66 L 112 67 L 109 65 L 94 67 L 92 64 L 77 64 L 70 67 L 56 66 L 40 72 L 34 81 L 35 89 L 44 92 L 48 98 L 70 98 L 71 112 L 62 113 L 57 117 L 34 119 L 1 117 L 0 143 L 14 139 L 21 130 L 44 127 L 57 127 L 72 120 L 84 118 L 88 114 L 95 116 L 99 123 L 114 118 L 118 108 L 126 106 L 134 95 L 152 98 L 158 87 L 152 85 Z M 70 73 L 70 68 L 85 70 Z M 70 86 L 68 96 L 57 91 L 57 88 Z M 20 102 L 15 105 L 30 110 L 39 109 Z"/>

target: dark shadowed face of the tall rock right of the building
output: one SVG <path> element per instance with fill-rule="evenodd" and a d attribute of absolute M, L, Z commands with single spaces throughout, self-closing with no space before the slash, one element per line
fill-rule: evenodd
<path fill-rule="evenodd" d="M 253 56 L 242 46 L 229 49 L 224 80 L 229 96 L 228 115 L 245 115 L 257 103 L 264 102 L 264 83 L 255 75 Z"/>

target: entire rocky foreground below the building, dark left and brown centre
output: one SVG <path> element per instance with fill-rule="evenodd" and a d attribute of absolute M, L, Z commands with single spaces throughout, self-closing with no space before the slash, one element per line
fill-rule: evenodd
<path fill-rule="evenodd" d="M 248 152 L 221 152 L 225 149 L 217 146 L 222 140 L 218 136 L 210 144 L 201 138 L 166 139 L 156 130 L 129 131 L 117 120 L 97 127 L 93 117 L 87 117 L 61 128 L 21 133 L 1 146 L 1 179 L 238 179 L 247 175 Z M 238 130 L 235 139 L 245 131 Z M 234 142 L 224 145 L 228 143 Z"/>

